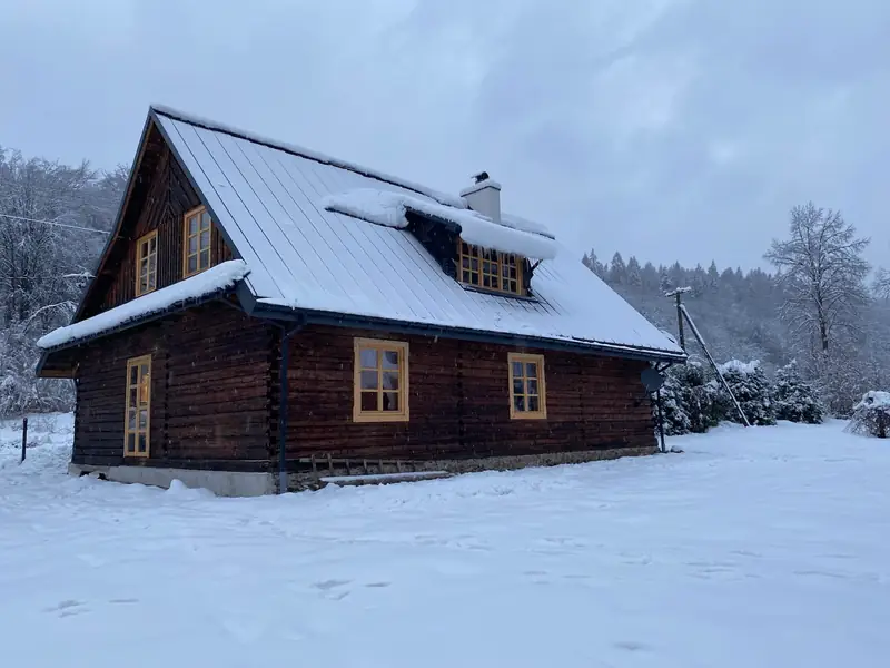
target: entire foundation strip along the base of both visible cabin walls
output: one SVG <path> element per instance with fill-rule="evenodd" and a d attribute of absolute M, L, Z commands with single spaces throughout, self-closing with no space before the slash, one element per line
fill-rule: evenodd
<path fill-rule="evenodd" d="M 464 460 L 433 460 L 428 462 L 399 462 L 387 470 L 387 465 L 373 465 L 374 471 L 365 475 L 354 475 L 345 468 L 319 468 L 318 471 L 289 473 L 288 491 L 317 490 L 328 483 L 346 484 L 350 479 L 365 478 L 375 483 L 400 482 L 422 478 L 442 478 L 476 471 L 512 471 L 526 466 L 556 466 L 580 464 L 621 456 L 643 456 L 655 454 L 657 448 L 616 448 L 613 450 L 584 450 L 578 452 L 554 452 L 550 454 L 525 454 L 517 456 L 488 456 Z M 169 488 L 174 480 L 190 488 L 204 488 L 219 497 L 260 497 L 277 492 L 277 473 L 239 473 L 234 471 L 198 471 L 191 469 L 156 469 L 152 466 L 88 466 L 69 464 L 71 475 L 96 473 L 116 482 L 140 482 L 155 487 Z M 428 472 L 429 475 L 423 475 Z M 326 480 L 327 479 L 327 480 Z"/>

